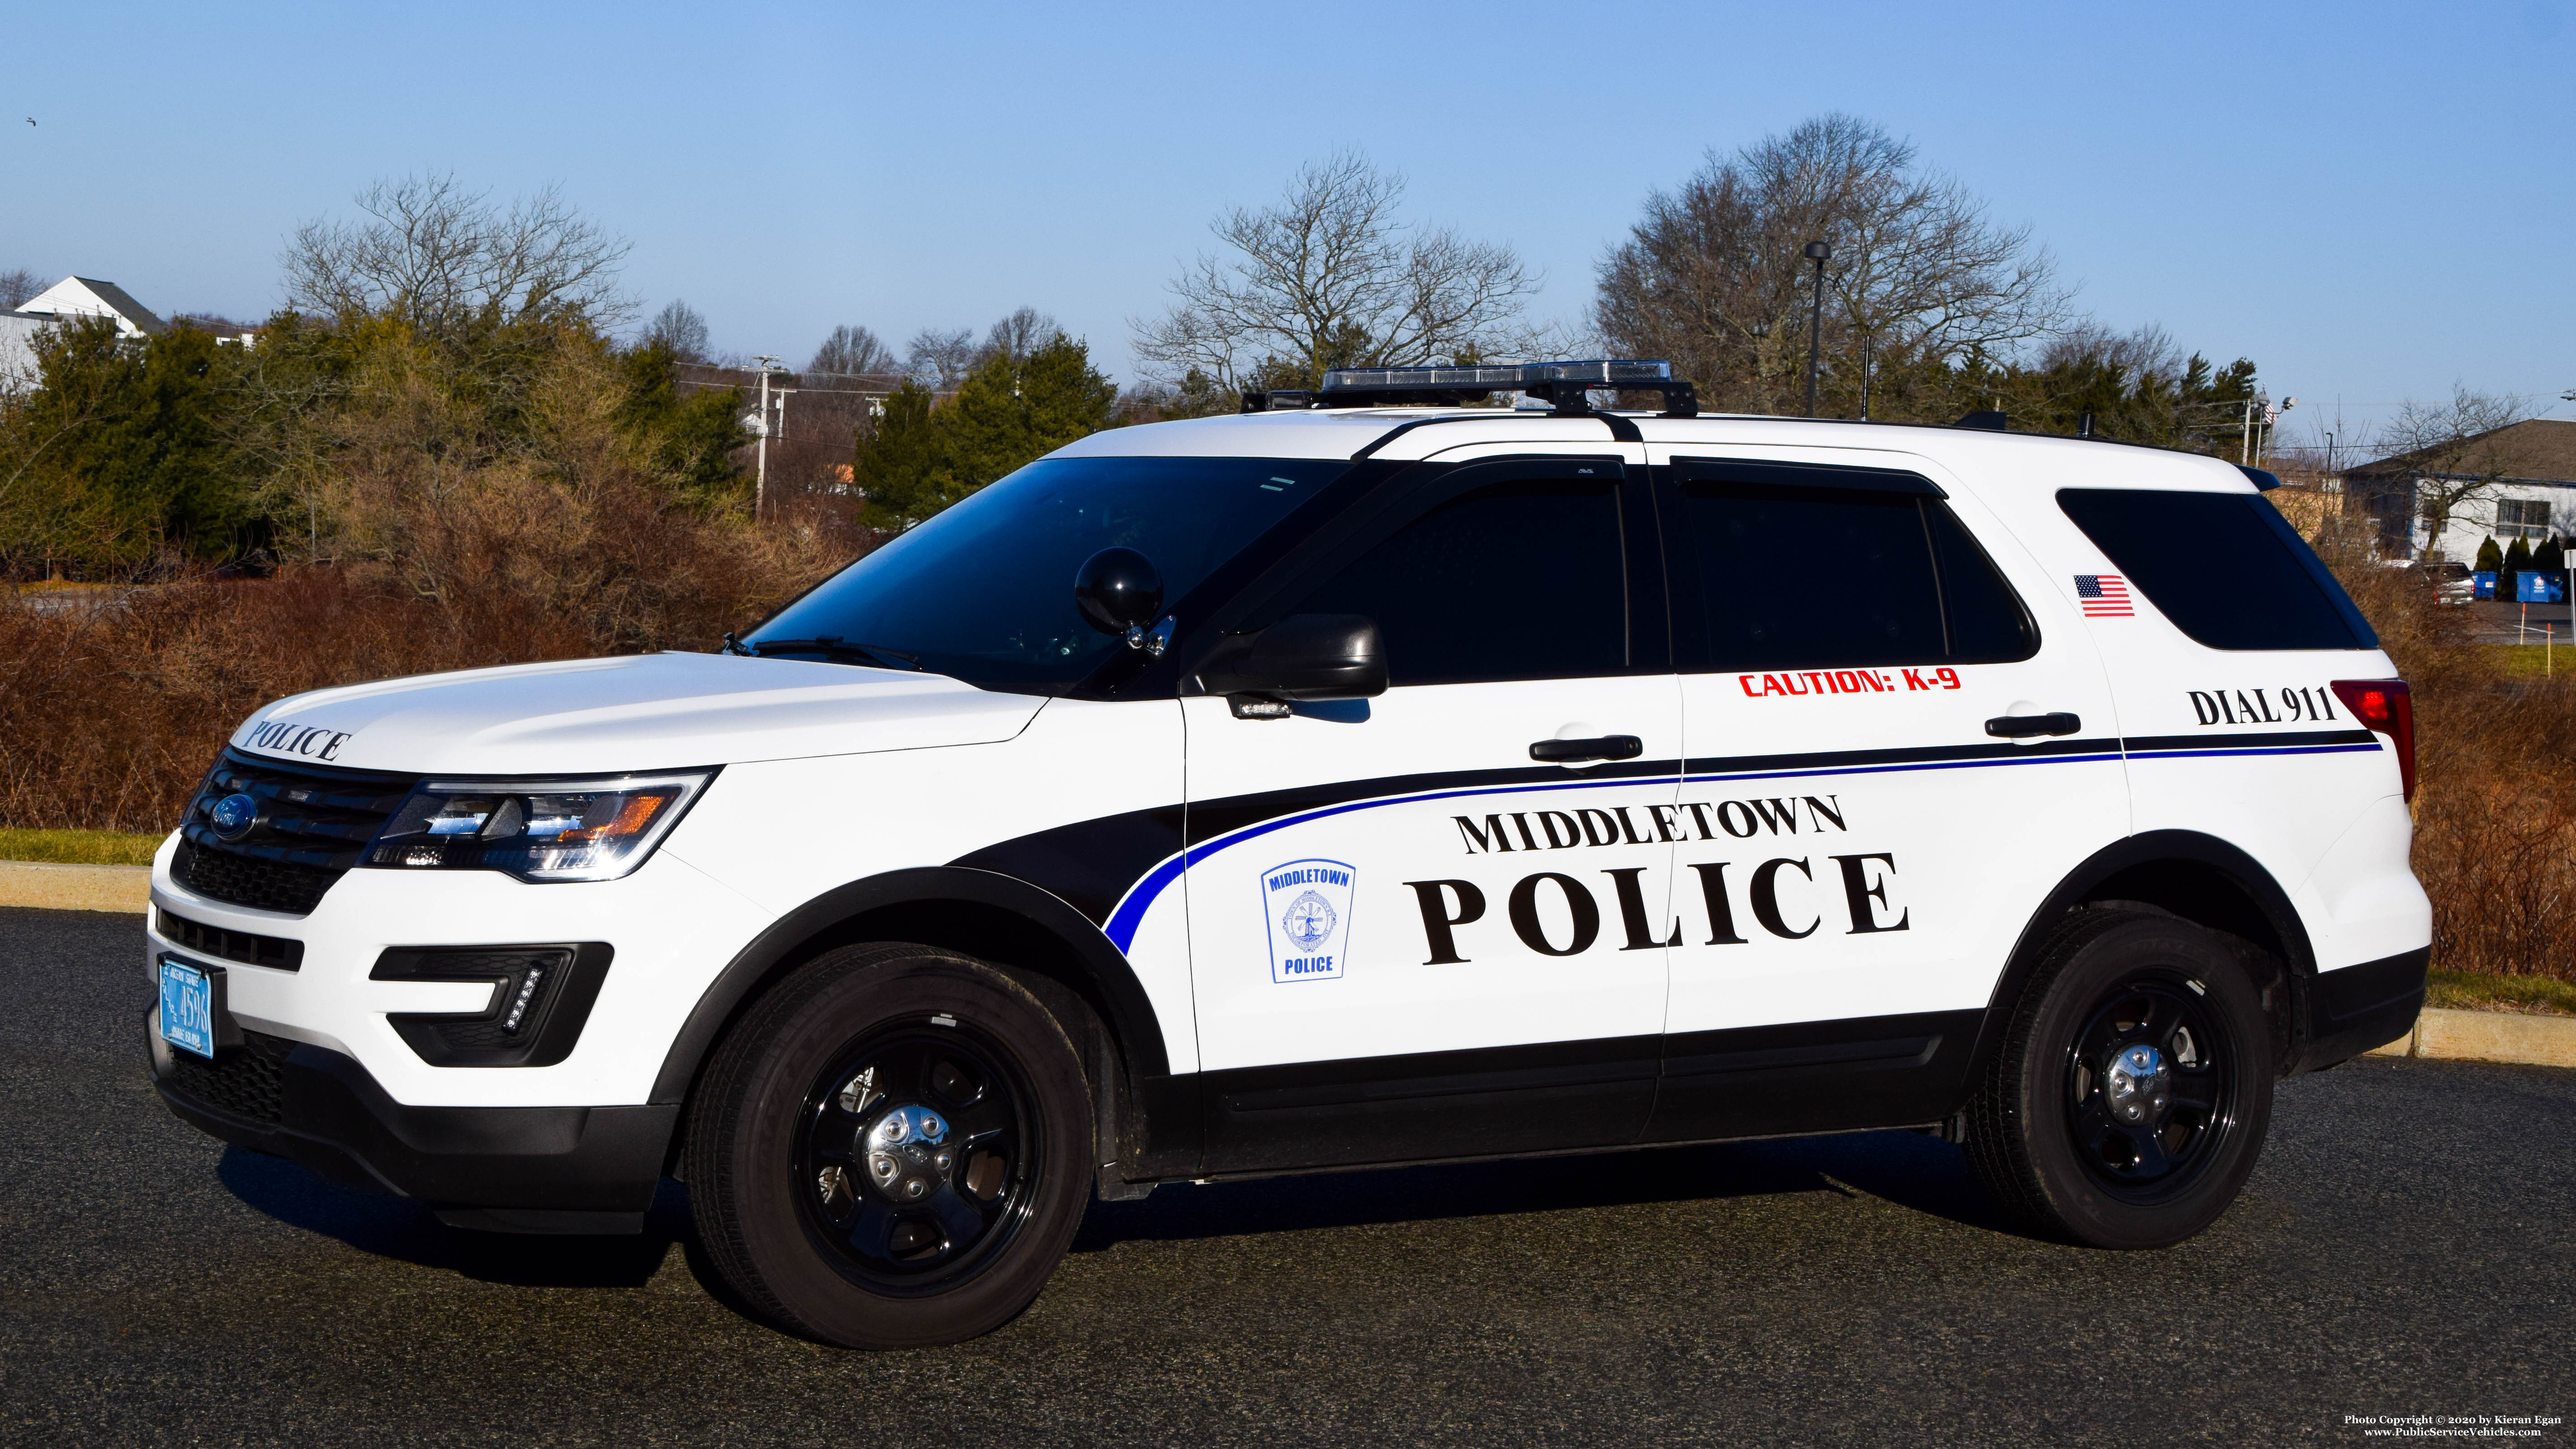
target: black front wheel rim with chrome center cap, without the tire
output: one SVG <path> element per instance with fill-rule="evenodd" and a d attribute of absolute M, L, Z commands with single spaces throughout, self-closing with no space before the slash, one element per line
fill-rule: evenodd
<path fill-rule="evenodd" d="M 806 1230 L 868 1289 L 953 1289 L 1028 1220 L 1030 1104 L 1010 1057 L 969 1029 L 891 1026 L 850 1042 L 796 1122 L 791 1191 Z"/>

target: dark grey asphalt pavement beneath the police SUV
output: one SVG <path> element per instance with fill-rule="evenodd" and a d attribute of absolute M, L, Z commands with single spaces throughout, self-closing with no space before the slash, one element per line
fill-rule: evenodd
<path fill-rule="evenodd" d="M 2576 1415 L 2576 1073 L 2285 1083 L 2166 1253 L 1875 1132 L 1095 1204 L 1018 1323 L 848 1354 L 644 1238 L 492 1238 L 196 1134 L 139 920 L 0 910 L 8 1444 L 2277 1444 Z M 2540 1444 L 2576 1441 L 2566 1423 Z"/>

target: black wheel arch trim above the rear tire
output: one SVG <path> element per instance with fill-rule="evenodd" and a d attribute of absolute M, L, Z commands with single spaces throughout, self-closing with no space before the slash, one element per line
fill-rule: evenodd
<path fill-rule="evenodd" d="M 2143 905 L 2251 941 L 2269 962 L 2269 972 L 2257 972 L 2269 980 L 2257 980 L 2254 987 L 2272 1021 L 2277 1062 L 2287 1070 L 2298 1060 L 2308 1034 L 2306 1000 L 2316 980 L 2316 951 L 2298 908 L 2290 905 L 2290 892 L 2262 861 L 2215 835 L 2148 830 L 2094 851 L 2030 913 L 1986 1003 L 1971 1073 L 1986 1070 L 2012 1006 L 2030 985 L 2058 926 L 2076 910 L 2112 902 Z"/>

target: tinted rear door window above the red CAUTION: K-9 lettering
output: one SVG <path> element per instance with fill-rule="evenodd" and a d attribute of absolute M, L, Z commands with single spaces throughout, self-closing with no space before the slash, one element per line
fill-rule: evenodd
<path fill-rule="evenodd" d="M 2020 598 L 1932 498 L 1739 482 L 1682 498 L 1710 668 L 2030 657 Z"/>

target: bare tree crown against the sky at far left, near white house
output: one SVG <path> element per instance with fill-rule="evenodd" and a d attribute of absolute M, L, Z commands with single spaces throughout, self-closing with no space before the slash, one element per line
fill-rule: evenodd
<path fill-rule="evenodd" d="M 291 307 L 402 317 L 430 335 L 538 317 L 611 327 L 631 315 L 616 286 L 629 242 L 554 186 L 495 206 L 453 175 L 412 175 L 368 186 L 358 209 L 363 222 L 296 229 L 278 258 Z"/>

